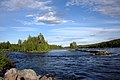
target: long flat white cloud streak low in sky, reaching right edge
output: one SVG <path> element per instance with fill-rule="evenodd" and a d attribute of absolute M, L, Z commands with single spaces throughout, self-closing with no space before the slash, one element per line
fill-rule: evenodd
<path fill-rule="evenodd" d="M 113 34 L 113 33 L 120 33 L 120 28 L 100 28 L 100 27 L 66 27 L 66 28 L 58 28 L 53 29 L 51 32 L 55 32 L 60 35 L 67 35 L 67 36 L 90 36 L 93 34 L 101 35 L 101 34 Z M 100 32 L 103 32 L 100 34 Z"/>

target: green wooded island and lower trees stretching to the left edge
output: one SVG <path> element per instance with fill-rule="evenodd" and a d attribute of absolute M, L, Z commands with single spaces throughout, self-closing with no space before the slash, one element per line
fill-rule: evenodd
<path fill-rule="evenodd" d="M 36 37 L 29 35 L 27 40 L 19 39 L 17 44 L 11 44 L 9 41 L 0 43 L 0 52 L 44 53 L 51 49 L 62 49 L 62 46 L 49 45 L 41 33 Z"/>

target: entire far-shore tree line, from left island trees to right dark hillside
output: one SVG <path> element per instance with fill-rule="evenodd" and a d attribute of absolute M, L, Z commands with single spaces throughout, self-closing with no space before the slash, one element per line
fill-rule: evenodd
<path fill-rule="evenodd" d="M 77 45 L 76 42 L 70 43 L 71 49 L 77 48 L 114 48 L 120 47 L 120 39 L 115 39 L 107 42 L 90 44 L 90 45 Z M 0 52 L 5 51 L 24 51 L 24 52 L 48 52 L 52 49 L 63 49 L 61 45 L 49 45 L 45 41 L 44 36 L 40 33 L 36 37 L 29 35 L 27 40 L 18 40 L 17 44 L 11 44 L 9 41 L 0 43 Z"/>

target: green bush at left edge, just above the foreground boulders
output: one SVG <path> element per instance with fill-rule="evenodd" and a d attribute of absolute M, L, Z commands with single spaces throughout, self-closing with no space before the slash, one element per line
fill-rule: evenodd
<path fill-rule="evenodd" d="M 8 59 L 6 54 L 0 54 L 0 71 L 5 70 L 12 62 Z"/>

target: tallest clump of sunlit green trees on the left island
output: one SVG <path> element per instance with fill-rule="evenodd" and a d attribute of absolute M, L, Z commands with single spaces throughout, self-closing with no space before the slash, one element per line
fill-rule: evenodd
<path fill-rule="evenodd" d="M 29 35 L 28 39 L 21 44 L 20 50 L 25 52 L 48 52 L 50 46 L 45 41 L 44 36 L 40 33 L 37 37 Z"/>

